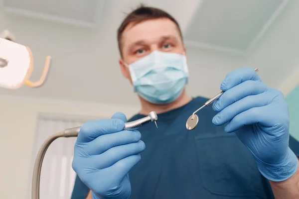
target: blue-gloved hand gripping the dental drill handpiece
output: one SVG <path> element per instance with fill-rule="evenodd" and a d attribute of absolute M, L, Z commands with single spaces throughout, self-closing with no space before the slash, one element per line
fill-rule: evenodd
<path fill-rule="evenodd" d="M 85 123 L 79 132 L 72 167 L 92 190 L 93 199 L 128 199 L 131 184 L 128 172 L 141 159 L 145 149 L 139 131 L 123 130 L 126 116 Z"/>

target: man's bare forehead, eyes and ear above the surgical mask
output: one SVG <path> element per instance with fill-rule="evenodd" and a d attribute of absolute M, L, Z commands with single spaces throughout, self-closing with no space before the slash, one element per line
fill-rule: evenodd
<path fill-rule="evenodd" d="M 129 24 L 122 35 L 123 59 L 120 66 L 125 78 L 132 83 L 128 67 L 152 51 L 183 54 L 183 46 L 176 24 L 167 18 L 151 19 L 136 25 Z"/>

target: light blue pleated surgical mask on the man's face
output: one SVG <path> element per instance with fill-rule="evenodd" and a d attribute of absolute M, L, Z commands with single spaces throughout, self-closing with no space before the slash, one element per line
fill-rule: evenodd
<path fill-rule="evenodd" d="M 188 82 L 185 55 L 153 51 L 128 67 L 134 91 L 151 103 L 176 100 Z"/>

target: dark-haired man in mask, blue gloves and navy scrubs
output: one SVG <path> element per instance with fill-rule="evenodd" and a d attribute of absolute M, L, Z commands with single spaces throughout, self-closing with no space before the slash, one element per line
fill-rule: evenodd
<path fill-rule="evenodd" d="M 299 143 L 289 136 L 281 92 L 253 69 L 231 72 L 220 87 L 225 93 L 198 112 L 189 131 L 187 118 L 207 99 L 185 92 L 186 49 L 175 19 L 142 6 L 123 21 L 118 42 L 121 71 L 142 106 L 130 121 L 156 111 L 158 129 L 123 130 L 123 113 L 84 124 L 72 199 L 89 190 L 90 199 L 299 198 Z"/>

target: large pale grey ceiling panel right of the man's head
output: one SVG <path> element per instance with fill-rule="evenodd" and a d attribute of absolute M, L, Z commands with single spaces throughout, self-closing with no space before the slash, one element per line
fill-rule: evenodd
<path fill-rule="evenodd" d="M 202 47 L 245 52 L 269 27 L 285 0 L 205 0 L 184 34 Z"/>

